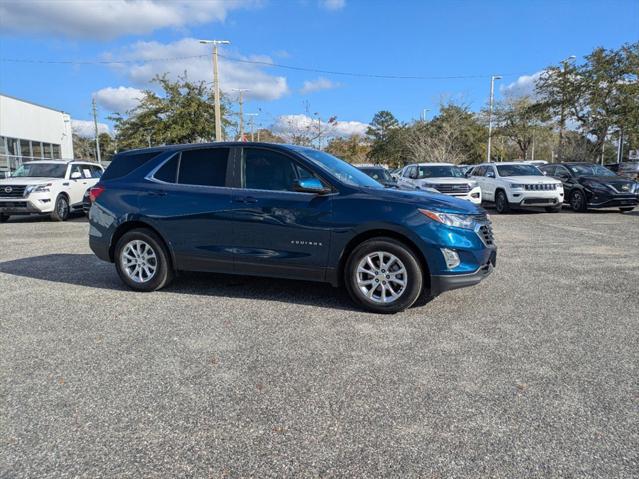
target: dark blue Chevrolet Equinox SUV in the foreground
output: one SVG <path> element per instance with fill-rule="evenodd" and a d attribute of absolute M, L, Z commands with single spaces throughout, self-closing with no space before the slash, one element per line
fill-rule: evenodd
<path fill-rule="evenodd" d="M 117 155 L 91 190 L 89 241 L 136 291 L 178 271 L 343 285 L 365 309 L 479 283 L 496 261 L 486 213 L 384 188 L 325 152 L 214 143 Z"/>

